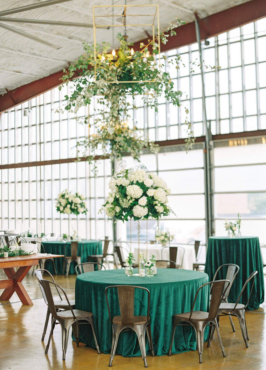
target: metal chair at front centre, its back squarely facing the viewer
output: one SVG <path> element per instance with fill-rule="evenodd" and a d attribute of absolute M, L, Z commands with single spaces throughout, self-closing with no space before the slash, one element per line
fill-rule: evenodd
<path fill-rule="evenodd" d="M 117 288 L 120 316 L 111 317 L 109 302 L 107 292 L 111 288 Z M 148 293 L 148 306 L 147 306 L 147 316 L 134 316 L 134 293 L 135 289 L 143 289 Z M 108 307 L 108 314 L 110 322 L 113 327 L 113 339 L 112 339 L 112 349 L 109 361 L 109 366 L 112 366 L 113 358 L 115 357 L 115 351 L 117 347 L 119 334 L 123 330 L 133 330 L 137 334 L 139 340 L 139 346 L 141 351 L 141 357 L 144 361 L 144 366 L 147 367 L 146 359 L 146 346 L 145 346 L 145 332 L 147 332 L 149 347 L 151 350 L 151 356 L 154 356 L 153 344 L 151 338 L 150 329 L 150 292 L 147 288 L 142 286 L 134 285 L 112 285 L 105 289 L 106 302 Z"/>

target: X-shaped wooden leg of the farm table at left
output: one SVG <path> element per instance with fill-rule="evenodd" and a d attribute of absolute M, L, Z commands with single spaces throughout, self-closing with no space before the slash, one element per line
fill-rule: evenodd
<path fill-rule="evenodd" d="M 0 296 L 0 300 L 9 300 L 14 292 L 16 292 L 23 305 L 33 305 L 32 300 L 21 283 L 30 268 L 31 266 L 20 266 L 17 272 L 13 267 L 3 269 L 8 279 L 0 281 L 0 288 L 6 288 Z"/>

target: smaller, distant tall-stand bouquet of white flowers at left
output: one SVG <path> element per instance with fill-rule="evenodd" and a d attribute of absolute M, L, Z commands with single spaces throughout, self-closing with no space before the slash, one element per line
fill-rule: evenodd
<path fill-rule="evenodd" d="M 56 210 L 66 215 L 70 215 L 70 213 L 74 213 L 75 215 L 79 215 L 80 213 L 86 214 L 88 209 L 85 199 L 86 197 L 79 192 L 72 194 L 71 191 L 66 189 L 58 194 Z"/>

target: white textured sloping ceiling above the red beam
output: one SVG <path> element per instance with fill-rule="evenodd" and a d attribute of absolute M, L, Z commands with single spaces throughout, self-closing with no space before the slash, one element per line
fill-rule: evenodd
<path fill-rule="evenodd" d="M 32 3 L 41 3 L 43 0 L 1 0 L 1 11 L 25 6 Z M 248 0 L 128 0 L 127 5 L 158 4 L 160 14 L 160 27 L 168 25 L 178 16 L 185 22 L 194 20 L 194 11 L 201 18 L 228 9 Z M 125 0 L 114 0 L 115 5 L 124 4 Z M 86 23 L 92 25 L 92 6 L 110 5 L 110 0 L 69 0 L 68 2 L 49 5 L 38 9 L 31 9 L 15 14 L 9 14 L 6 18 L 64 21 Z M 123 8 L 116 8 L 115 14 L 122 14 Z M 128 8 L 129 9 L 129 8 Z M 134 8 L 136 9 L 136 8 Z M 142 10 L 143 9 L 143 10 Z M 145 8 L 147 9 L 147 8 Z M 100 15 L 111 14 L 112 10 L 99 8 Z M 132 9 L 133 11 L 133 9 Z M 141 8 L 144 12 L 144 7 Z M 150 11 L 150 9 L 149 9 Z M 147 14 L 147 13 L 145 13 Z M 133 17 L 139 23 L 139 17 Z M 132 19 L 130 21 L 132 22 Z M 114 17 L 115 23 L 118 17 Z M 145 20 L 145 22 L 144 22 Z M 141 21 L 149 21 L 141 17 Z M 99 17 L 100 24 L 112 23 L 109 17 Z M 129 17 L 127 18 L 129 22 Z M 150 22 L 149 22 L 150 23 Z M 13 31 L 0 27 L 0 94 L 16 87 L 38 80 L 52 73 L 68 67 L 68 62 L 75 60 L 82 54 L 83 42 L 93 43 L 93 28 L 58 26 L 47 24 L 13 23 L 0 20 L 0 26 L 16 28 L 19 31 L 37 37 L 51 45 L 45 45 L 30 38 L 18 35 Z M 122 31 L 123 27 L 113 27 L 116 32 Z M 147 37 L 146 32 L 151 34 L 151 27 L 128 27 L 129 41 L 135 42 Z M 97 41 L 107 41 L 112 44 L 112 28 L 98 28 Z M 116 45 L 115 45 L 116 46 Z"/>

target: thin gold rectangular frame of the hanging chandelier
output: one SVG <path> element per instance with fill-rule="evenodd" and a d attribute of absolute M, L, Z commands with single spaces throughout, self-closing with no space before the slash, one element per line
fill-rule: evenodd
<path fill-rule="evenodd" d="M 124 8 L 124 12 L 122 17 L 124 18 L 123 24 L 96 24 L 96 18 L 98 17 L 121 17 L 121 14 L 110 14 L 110 15 L 95 15 L 95 8 Z M 126 10 L 129 7 L 134 7 L 134 8 L 141 8 L 141 7 L 156 7 L 155 13 L 154 14 L 126 14 Z M 92 7 L 92 12 L 93 12 L 93 48 L 94 48 L 94 61 L 96 62 L 96 28 L 97 27 L 122 27 L 125 26 L 126 23 L 126 17 L 140 17 L 140 16 L 146 16 L 146 17 L 153 17 L 153 22 L 149 24 L 126 24 L 126 26 L 130 27 L 139 27 L 139 26 L 152 26 L 153 28 L 153 41 L 155 39 L 155 32 L 154 32 L 154 23 L 156 20 L 156 15 L 157 15 L 157 29 L 158 29 L 158 57 L 159 57 L 159 65 L 161 66 L 161 60 L 160 60 L 160 54 L 161 54 L 161 46 L 160 46 L 160 23 L 159 23 L 159 6 L 158 4 L 146 4 L 146 5 L 93 5 Z M 95 80 L 96 80 L 96 65 L 94 65 L 94 73 L 95 73 Z M 139 83 L 139 82 L 152 82 L 154 80 L 147 80 L 147 81 L 109 81 L 108 83 L 110 84 L 122 84 L 122 83 Z"/>

